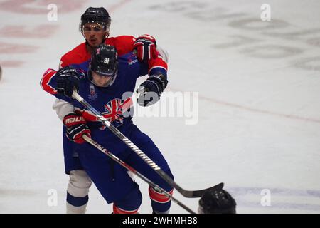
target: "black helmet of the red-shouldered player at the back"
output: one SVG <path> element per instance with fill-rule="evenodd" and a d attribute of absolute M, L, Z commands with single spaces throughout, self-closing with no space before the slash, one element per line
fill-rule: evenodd
<path fill-rule="evenodd" d="M 79 30 L 83 33 L 83 26 L 87 23 L 97 23 L 101 24 L 105 31 L 110 30 L 111 18 L 107 9 L 103 7 L 89 7 L 85 13 L 81 15 L 81 22 L 79 25 Z"/>

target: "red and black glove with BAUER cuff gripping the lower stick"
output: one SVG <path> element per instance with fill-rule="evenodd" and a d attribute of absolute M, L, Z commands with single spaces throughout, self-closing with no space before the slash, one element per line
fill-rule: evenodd
<path fill-rule="evenodd" d="M 67 128 L 66 135 L 70 141 L 83 143 L 85 140 L 82 135 L 87 135 L 91 138 L 91 131 L 87 126 L 87 121 L 82 115 L 70 113 L 63 118 L 63 124 Z"/>

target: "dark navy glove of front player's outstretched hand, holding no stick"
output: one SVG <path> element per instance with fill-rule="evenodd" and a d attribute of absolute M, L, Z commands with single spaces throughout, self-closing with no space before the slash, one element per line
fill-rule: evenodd
<path fill-rule="evenodd" d="M 144 107 L 155 104 L 160 99 L 160 95 L 167 84 L 168 80 L 162 73 L 147 78 L 137 89 L 138 104 Z"/>

